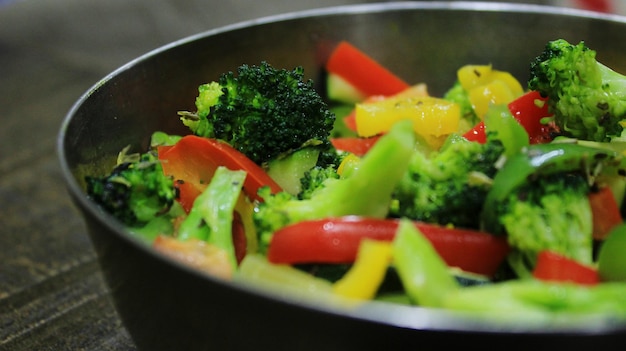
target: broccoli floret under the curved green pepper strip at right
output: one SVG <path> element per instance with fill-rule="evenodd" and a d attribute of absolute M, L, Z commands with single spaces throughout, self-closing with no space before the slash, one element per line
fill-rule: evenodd
<path fill-rule="evenodd" d="M 581 173 L 552 174 L 525 183 L 501 204 L 500 221 L 520 267 L 532 268 L 542 250 L 592 262 L 589 183 Z M 524 266 L 521 266 L 521 264 Z"/>

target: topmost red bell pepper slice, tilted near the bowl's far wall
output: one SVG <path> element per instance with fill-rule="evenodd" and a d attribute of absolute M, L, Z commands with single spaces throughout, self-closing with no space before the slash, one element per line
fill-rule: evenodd
<path fill-rule="evenodd" d="M 342 41 L 333 50 L 326 70 L 370 95 L 393 95 L 409 87 L 390 70 L 352 44 Z"/>

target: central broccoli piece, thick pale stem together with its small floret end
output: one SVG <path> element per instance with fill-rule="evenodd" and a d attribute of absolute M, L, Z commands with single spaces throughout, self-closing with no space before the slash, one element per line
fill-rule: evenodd
<path fill-rule="evenodd" d="M 272 195 L 267 187 L 261 188 L 264 202 L 254 213 L 261 250 L 276 230 L 298 221 L 347 215 L 386 217 L 414 145 L 412 123 L 401 121 L 378 140 L 349 177 L 327 178 L 310 198 L 301 200 L 287 192 Z"/>

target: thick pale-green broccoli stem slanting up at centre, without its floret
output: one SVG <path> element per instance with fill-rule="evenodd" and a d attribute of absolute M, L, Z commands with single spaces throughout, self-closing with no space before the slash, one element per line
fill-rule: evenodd
<path fill-rule="evenodd" d="M 330 183 L 311 199 L 290 203 L 291 222 L 346 215 L 386 217 L 392 193 L 408 168 L 414 147 L 412 123 L 398 122 L 348 178 Z"/>

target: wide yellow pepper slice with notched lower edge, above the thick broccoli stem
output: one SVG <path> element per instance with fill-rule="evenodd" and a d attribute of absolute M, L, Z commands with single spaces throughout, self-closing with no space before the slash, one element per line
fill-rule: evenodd
<path fill-rule="evenodd" d="M 371 137 L 389 131 L 401 120 L 413 122 L 413 129 L 424 137 L 455 132 L 461 117 L 456 103 L 431 96 L 394 96 L 382 101 L 357 104 L 357 133 Z"/>

